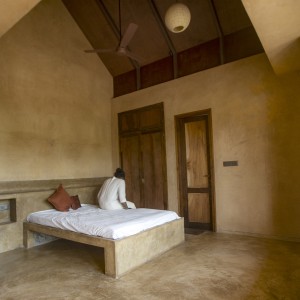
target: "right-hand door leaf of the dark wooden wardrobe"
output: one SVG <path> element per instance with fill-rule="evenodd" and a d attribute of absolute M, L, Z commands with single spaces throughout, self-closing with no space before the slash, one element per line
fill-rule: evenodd
<path fill-rule="evenodd" d="M 161 132 L 141 135 L 142 190 L 145 207 L 164 209 L 164 149 Z"/>

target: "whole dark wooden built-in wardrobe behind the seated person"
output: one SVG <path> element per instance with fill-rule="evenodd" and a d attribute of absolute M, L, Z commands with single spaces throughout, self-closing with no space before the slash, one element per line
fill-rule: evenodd
<path fill-rule="evenodd" d="M 167 209 L 162 103 L 120 113 L 119 141 L 128 200 L 137 207 Z"/>

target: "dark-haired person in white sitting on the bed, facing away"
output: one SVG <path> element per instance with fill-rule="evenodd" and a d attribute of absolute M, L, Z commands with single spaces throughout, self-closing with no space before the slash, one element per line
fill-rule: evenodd
<path fill-rule="evenodd" d="M 102 209 L 136 208 L 133 202 L 126 200 L 125 172 L 120 168 L 116 169 L 112 178 L 104 181 L 97 198 Z"/>

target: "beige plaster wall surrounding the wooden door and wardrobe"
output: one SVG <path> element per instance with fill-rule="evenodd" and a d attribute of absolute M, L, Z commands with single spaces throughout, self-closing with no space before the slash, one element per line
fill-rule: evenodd
<path fill-rule="evenodd" d="M 113 100 L 117 113 L 164 102 L 169 209 L 178 210 L 174 116 L 212 109 L 217 230 L 300 238 L 299 73 L 276 77 L 265 54 Z M 238 160 L 238 167 L 223 167 Z M 297 184 L 298 182 L 298 184 Z"/>

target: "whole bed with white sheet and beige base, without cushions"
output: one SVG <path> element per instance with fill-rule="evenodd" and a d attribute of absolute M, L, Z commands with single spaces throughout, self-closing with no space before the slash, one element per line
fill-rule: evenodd
<path fill-rule="evenodd" d="M 184 241 L 183 218 L 154 209 L 34 212 L 24 222 L 24 246 L 37 245 L 34 233 L 104 248 L 105 274 L 118 278 Z"/>

